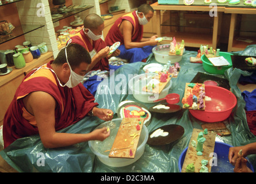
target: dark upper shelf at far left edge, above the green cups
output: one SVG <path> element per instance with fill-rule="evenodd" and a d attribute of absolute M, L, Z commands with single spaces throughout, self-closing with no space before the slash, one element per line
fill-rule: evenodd
<path fill-rule="evenodd" d="M 5 36 L 0 36 L 0 44 L 5 43 L 6 41 L 10 41 L 16 39 L 19 36 L 22 36 L 26 33 L 32 32 L 33 30 L 42 28 L 44 25 L 20 25 L 16 26 L 11 34 L 7 34 Z"/>

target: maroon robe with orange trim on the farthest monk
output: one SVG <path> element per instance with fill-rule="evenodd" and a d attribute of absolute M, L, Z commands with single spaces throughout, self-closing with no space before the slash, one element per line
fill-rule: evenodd
<path fill-rule="evenodd" d="M 120 44 L 124 44 L 123 34 L 119 30 L 119 26 L 123 20 L 131 22 L 132 28 L 132 42 L 139 42 L 142 40 L 143 36 L 143 25 L 139 24 L 139 19 L 137 18 L 136 11 L 132 13 L 125 14 L 122 17 L 119 17 L 113 26 L 110 28 L 108 34 L 106 35 L 105 42 L 106 45 L 113 45 L 117 41 L 120 41 Z"/>

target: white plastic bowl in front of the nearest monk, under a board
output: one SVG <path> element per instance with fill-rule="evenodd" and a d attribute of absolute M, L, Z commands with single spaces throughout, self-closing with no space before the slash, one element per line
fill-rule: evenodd
<path fill-rule="evenodd" d="M 137 145 L 137 150 L 134 159 L 127 158 L 109 158 L 109 152 L 104 152 L 106 150 L 110 150 L 114 143 L 114 139 L 116 138 L 117 132 L 119 130 L 119 126 L 123 118 L 116 118 L 111 121 L 104 122 L 95 129 L 102 127 L 110 128 L 110 136 L 106 138 L 104 141 L 90 140 L 89 147 L 91 151 L 98 157 L 98 159 L 111 167 L 123 167 L 128 166 L 136 162 L 144 153 L 145 145 L 148 140 L 148 129 L 145 125 L 142 127 L 142 132 L 140 132 L 140 139 Z"/>

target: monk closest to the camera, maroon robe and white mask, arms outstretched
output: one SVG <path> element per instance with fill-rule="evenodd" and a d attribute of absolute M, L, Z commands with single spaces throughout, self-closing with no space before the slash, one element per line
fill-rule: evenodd
<path fill-rule="evenodd" d="M 93 95 L 81 83 L 90 63 L 89 52 L 71 43 L 60 50 L 55 60 L 29 72 L 3 119 L 4 147 L 19 138 L 37 134 L 45 148 L 108 137 L 106 128 L 85 134 L 56 132 L 86 115 L 105 121 L 113 118 L 112 110 L 97 108 Z"/>

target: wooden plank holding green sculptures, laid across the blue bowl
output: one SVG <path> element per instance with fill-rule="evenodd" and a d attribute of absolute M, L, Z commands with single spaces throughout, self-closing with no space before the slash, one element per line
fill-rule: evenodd
<path fill-rule="evenodd" d="M 211 161 L 212 157 L 209 157 L 209 154 L 213 153 L 213 151 L 214 151 L 216 134 L 213 132 L 208 132 L 207 135 L 204 135 L 204 137 L 206 139 L 203 144 L 204 151 L 202 152 L 201 156 L 198 156 L 196 147 L 193 147 L 191 142 L 194 140 L 197 143 L 198 133 L 200 133 L 200 132 L 203 132 L 203 130 L 193 129 L 192 136 L 189 141 L 189 147 L 186 152 L 186 156 L 184 159 L 181 173 L 186 173 L 186 167 L 188 166 L 188 164 L 191 164 L 191 163 L 194 164 L 194 173 L 200 173 L 201 166 L 202 166 L 202 164 L 201 164 L 202 159 L 208 160 L 208 164 L 206 167 L 208 167 L 208 171 L 209 171 L 209 173 L 211 173 L 210 161 Z"/>

